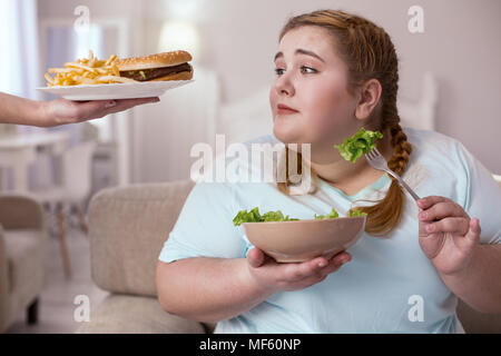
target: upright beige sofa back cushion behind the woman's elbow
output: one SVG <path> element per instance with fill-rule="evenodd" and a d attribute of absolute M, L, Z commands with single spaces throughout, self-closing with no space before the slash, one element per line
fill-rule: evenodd
<path fill-rule="evenodd" d="M 100 288 L 157 296 L 158 256 L 193 186 L 185 180 L 111 188 L 92 198 L 91 269 Z"/>

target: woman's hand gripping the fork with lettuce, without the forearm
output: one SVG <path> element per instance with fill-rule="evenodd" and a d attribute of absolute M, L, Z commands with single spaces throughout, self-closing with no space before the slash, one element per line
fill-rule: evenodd
<path fill-rule="evenodd" d="M 430 196 L 418 200 L 419 239 L 439 273 L 454 275 L 469 266 L 480 240 L 480 221 L 470 219 L 451 199 Z"/>

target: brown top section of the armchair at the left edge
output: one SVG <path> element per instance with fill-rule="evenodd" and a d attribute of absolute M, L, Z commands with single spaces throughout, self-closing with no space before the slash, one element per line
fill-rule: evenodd
<path fill-rule="evenodd" d="M 43 229 L 43 208 L 39 201 L 22 195 L 0 196 L 0 224 L 10 229 Z"/>

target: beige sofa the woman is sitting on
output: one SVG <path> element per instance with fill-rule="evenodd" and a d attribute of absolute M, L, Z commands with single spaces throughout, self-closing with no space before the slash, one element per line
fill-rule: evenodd
<path fill-rule="evenodd" d="M 500 181 L 501 185 L 501 181 Z M 158 255 L 173 229 L 190 180 L 109 188 L 89 206 L 91 275 L 109 291 L 77 333 L 212 333 L 215 324 L 164 312 L 157 300 Z M 501 315 L 480 314 L 460 301 L 466 333 L 501 333 Z"/>

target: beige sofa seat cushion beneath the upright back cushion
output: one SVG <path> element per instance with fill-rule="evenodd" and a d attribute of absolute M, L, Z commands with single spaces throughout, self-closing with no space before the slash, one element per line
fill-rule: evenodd
<path fill-rule="evenodd" d="M 156 298 L 110 295 L 77 334 L 204 334 L 200 323 L 161 309 Z"/>

